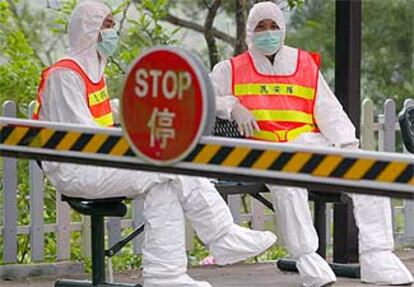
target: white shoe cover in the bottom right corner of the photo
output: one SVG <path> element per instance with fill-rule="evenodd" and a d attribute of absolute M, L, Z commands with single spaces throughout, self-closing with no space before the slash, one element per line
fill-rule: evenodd
<path fill-rule="evenodd" d="M 372 251 L 359 256 L 361 281 L 377 285 L 411 285 L 413 276 L 391 251 Z"/>

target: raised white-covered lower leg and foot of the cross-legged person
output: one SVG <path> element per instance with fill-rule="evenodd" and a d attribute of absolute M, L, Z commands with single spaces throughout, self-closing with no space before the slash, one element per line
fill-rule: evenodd
<path fill-rule="evenodd" d="M 254 231 L 233 223 L 223 198 L 208 180 L 180 176 L 175 182 L 185 216 L 219 265 L 256 256 L 276 241 L 271 232 Z"/>

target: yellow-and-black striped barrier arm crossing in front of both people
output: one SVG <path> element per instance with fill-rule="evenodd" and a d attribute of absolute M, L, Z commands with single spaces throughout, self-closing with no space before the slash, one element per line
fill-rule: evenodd
<path fill-rule="evenodd" d="M 414 199 L 414 156 L 203 137 L 182 162 L 135 156 L 121 129 L 0 117 L 0 155 Z"/>

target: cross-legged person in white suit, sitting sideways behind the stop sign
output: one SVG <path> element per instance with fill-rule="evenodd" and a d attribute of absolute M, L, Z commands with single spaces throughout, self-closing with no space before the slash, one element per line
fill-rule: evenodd
<path fill-rule="evenodd" d="M 117 42 L 106 5 L 78 4 L 69 23 L 68 55 L 44 71 L 34 118 L 112 126 L 103 73 Z M 211 286 L 186 274 L 184 216 L 222 265 L 256 256 L 276 241 L 271 232 L 234 224 L 227 205 L 204 178 L 54 162 L 43 162 L 42 168 L 56 189 L 70 197 L 145 195 L 145 287 Z"/>

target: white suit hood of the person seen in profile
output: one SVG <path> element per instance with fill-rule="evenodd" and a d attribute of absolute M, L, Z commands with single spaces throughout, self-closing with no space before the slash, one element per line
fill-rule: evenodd
<path fill-rule="evenodd" d="M 94 1 L 80 2 L 69 21 L 69 53 L 93 82 L 101 79 L 106 58 L 99 60 L 96 45 L 105 18 L 111 13 L 108 6 Z"/>

